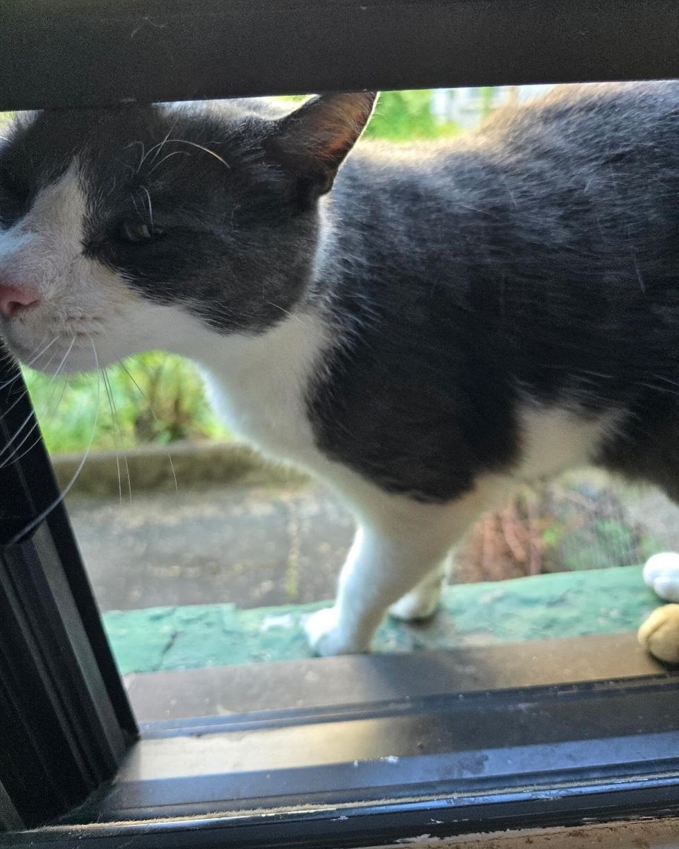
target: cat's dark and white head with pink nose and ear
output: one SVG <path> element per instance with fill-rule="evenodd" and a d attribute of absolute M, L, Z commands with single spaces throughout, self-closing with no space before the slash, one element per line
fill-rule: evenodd
<path fill-rule="evenodd" d="M 0 336 L 75 371 L 278 323 L 306 295 L 318 200 L 373 101 L 20 115 L 0 148 Z"/>

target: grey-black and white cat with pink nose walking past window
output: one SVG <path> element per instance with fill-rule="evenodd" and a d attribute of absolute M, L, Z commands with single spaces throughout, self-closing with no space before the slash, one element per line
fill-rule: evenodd
<path fill-rule="evenodd" d="M 518 481 L 595 463 L 679 498 L 679 83 L 345 161 L 373 101 L 31 113 L 0 150 L 10 351 L 190 357 L 233 430 L 353 509 L 323 655 L 428 616 Z"/>

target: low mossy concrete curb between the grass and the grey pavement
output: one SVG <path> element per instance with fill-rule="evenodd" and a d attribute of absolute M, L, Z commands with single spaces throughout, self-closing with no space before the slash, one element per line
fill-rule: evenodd
<path fill-rule="evenodd" d="M 76 475 L 82 454 L 55 454 L 54 473 L 62 488 Z M 174 475 L 173 475 L 174 469 Z M 132 492 L 174 492 L 177 486 L 210 486 L 238 483 L 280 485 L 308 480 L 297 469 L 267 462 L 242 442 L 172 442 L 144 446 L 117 454 L 96 451 L 89 455 L 70 494 L 81 497 L 118 496 L 125 493 L 129 472 Z"/>

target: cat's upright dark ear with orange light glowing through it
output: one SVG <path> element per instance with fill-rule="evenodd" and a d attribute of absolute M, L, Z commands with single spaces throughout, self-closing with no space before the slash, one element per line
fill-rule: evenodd
<path fill-rule="evenodd" d="M 322 94 L 276 121 L 269 155 L 297 182 L 300 205 L 333 187 L 337 170 L 363 132 L 377 93 Z"/>

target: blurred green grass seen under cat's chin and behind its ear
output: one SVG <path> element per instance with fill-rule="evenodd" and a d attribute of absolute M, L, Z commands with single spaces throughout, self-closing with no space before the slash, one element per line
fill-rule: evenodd
<path fill-rule="evenodd" d="M 431 90 L 382 93 L 367 138 L 405 142 L 457 132 L 454 124 L 439 121 L 432 114 L 431 100 Z M 482 98 L 482 104 L 486 100 Z M 0 123 L 5 117 L 0 115 Z M 81 451 L 91 439 L 94 448 L 122 448 L 229 436 L 210 412 L 192 363 L 151 352 L 128 358 L 124 367 L 111 366 L 107 374 L 115 415 L 103 383 L 98 388 L 101 379 L 97 375 L 79 374 L 53 381 L 48 375 L 25 369 L 26 384 L 50 451 Z"/>

